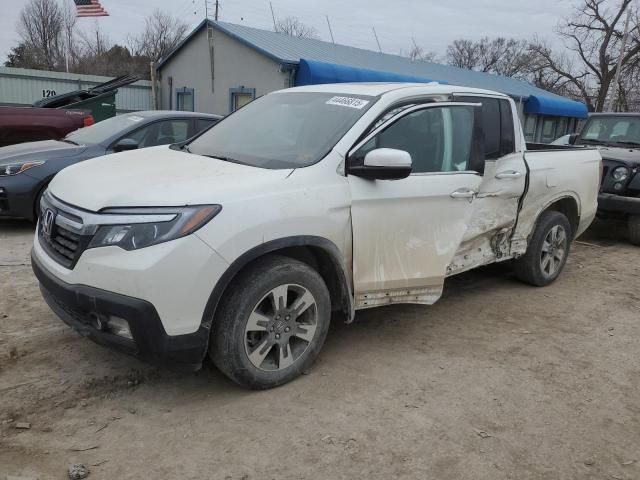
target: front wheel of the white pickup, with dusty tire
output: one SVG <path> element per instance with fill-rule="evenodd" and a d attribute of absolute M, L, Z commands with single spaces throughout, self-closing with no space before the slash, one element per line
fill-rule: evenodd
<path fill-rule="evenodd" d="M 265 257 L 227 287 L 211 329 L 209 356 L 243 387 L 276 387 L 313 364 L 330 321 L 329 290 L 318 272 L 288 257 Z"/>

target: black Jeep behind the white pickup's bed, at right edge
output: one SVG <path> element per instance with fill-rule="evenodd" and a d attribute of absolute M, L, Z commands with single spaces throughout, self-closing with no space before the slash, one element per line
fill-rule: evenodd
<path fill-rule="evenodd" d="M 640 113 L 590 114 L 567 143 L 598 147 L 603 164 L 598 216 L 626 221 L 629 241 L 640 245 Z"/>

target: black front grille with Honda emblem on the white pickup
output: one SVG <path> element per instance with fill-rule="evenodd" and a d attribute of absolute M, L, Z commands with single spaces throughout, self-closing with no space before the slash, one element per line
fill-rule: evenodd
<path fill-rule="evenodd" d="M 59 216 L 71 217 L 74 221 L 79 220 L 77 217 L 65 214 L 46 202 L 42 206 L 38 227 L 40 244 L 51 258 L 60 265 L 72 269 L 78 262 L 82 252 L 89 246 L 91 236 L 75 233 L 57 221 Z M 53 221 L 50 222 L 48 227 L 45 227 L 47 212 L 50 212 L 49 215 L 52 215 Z M 47 231 L 45 232 L 45 230 Z"/>

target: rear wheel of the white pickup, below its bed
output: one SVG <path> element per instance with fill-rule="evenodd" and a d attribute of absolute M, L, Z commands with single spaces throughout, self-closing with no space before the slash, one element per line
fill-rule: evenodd
<path fill-rule="evenodd" d="M 564 214 L 544 212 L 538 220 L 527 252 L 514 263 L 516 277 L 536 287 L 553 283 L 567 262 L 571 238 L 571 224 Z"/>

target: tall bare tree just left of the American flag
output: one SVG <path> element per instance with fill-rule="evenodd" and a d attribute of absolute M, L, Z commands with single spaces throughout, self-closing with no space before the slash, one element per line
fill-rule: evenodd
<path fill-rule="evenodd" d="M 30 0 L 20 13 L 18 33 L 35 63 L 48 70 L 59 64 L 63 51 L 64 19 L 56 0 Z"/>

